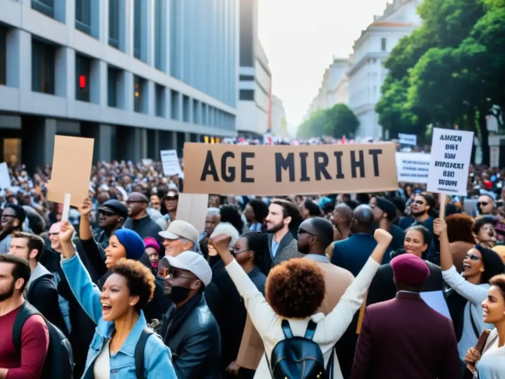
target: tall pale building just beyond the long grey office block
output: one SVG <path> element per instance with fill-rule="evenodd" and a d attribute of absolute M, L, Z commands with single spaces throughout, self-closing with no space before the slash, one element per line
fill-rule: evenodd
<path fill-rule="evenodd" d="M 240 67 L 237 132 L 264 135 L 271 127 L 272 73 L 258 38 L 258 0 L 240 0 Z"/>

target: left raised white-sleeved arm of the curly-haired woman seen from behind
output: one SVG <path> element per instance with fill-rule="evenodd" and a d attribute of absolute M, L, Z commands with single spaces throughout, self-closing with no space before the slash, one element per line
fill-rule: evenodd
<path fill-rule="evenodd" d="M 231 280 L 233 280 L 238 293 L 244 299 L 245 309 L 247 309 L 252 324 L 255 326 L 261 338 L 266 339 L 268 338 L 270 324 L 276 320 L 278 316 L 267 303 L 263 294 L 231 255 L 228 249 L 229 241 L 229 235 L 218 234 L 213 237 L 209 243 L 214 246 L 221 256 L 226 271 L 230 275 Z"/>

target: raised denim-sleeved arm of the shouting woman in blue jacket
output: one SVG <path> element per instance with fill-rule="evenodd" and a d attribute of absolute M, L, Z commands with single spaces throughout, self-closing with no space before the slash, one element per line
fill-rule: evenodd
<path fill-rule="evenodd" d="M 102 317 L 100 304 L 100 290 L 94 285 L 89 273 L 72 245 L 73 226 L 68 221 L 61 222 L 60 242 L 62 247 L 62 269 L 68 285 L 82 309 L 88 316 L 98 323 Z"/>

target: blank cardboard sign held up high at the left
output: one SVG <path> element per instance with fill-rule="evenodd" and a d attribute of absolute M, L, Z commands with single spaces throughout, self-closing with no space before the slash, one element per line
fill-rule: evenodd
<path fill-rule="evenodd" d="M 82 200 L 88 196 L 93 145 L 93 138 L 55 136 L 47 200 L 63 204 L 65 194 L 70 194 L 70 205 L 79 207 L 82 204 Z"/>

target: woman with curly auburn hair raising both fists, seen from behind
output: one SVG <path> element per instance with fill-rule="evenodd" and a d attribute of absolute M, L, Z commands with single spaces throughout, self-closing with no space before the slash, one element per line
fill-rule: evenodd
<path fill-rule="evenodd" d="M 228 274 L 244 299 L 247 313 L 263 340 L 266 355 L 271 357 L 275 345 L 285 339 L 281 327 L 283 319 L 289 321 L 294 336 L 304 336 L 312 319 L 317 323 L 313 341 L 321 348 L 327 366 L 330 359 L 334 359 L 333 346 L 361 307 L 365 291 L 382 262 L 391 238 L 385 230 L 375 231 L 377 247 L 339 303 L 327 316 L 315 314 L 325 295 L 324 274 L 316 263 L 304 258 L 294 258 L 275 266 L 268 274 L 263 297 L 233 258 L 228 247 L 229 237 L 222 234 L 214 236 L 211 244 L 221 256 Z M 334 366 L 333 377 L 341 378 L 338 364 Z M 270 376 L 268 363 L 262 359 L 255 378 L 263 379 Z"/>

